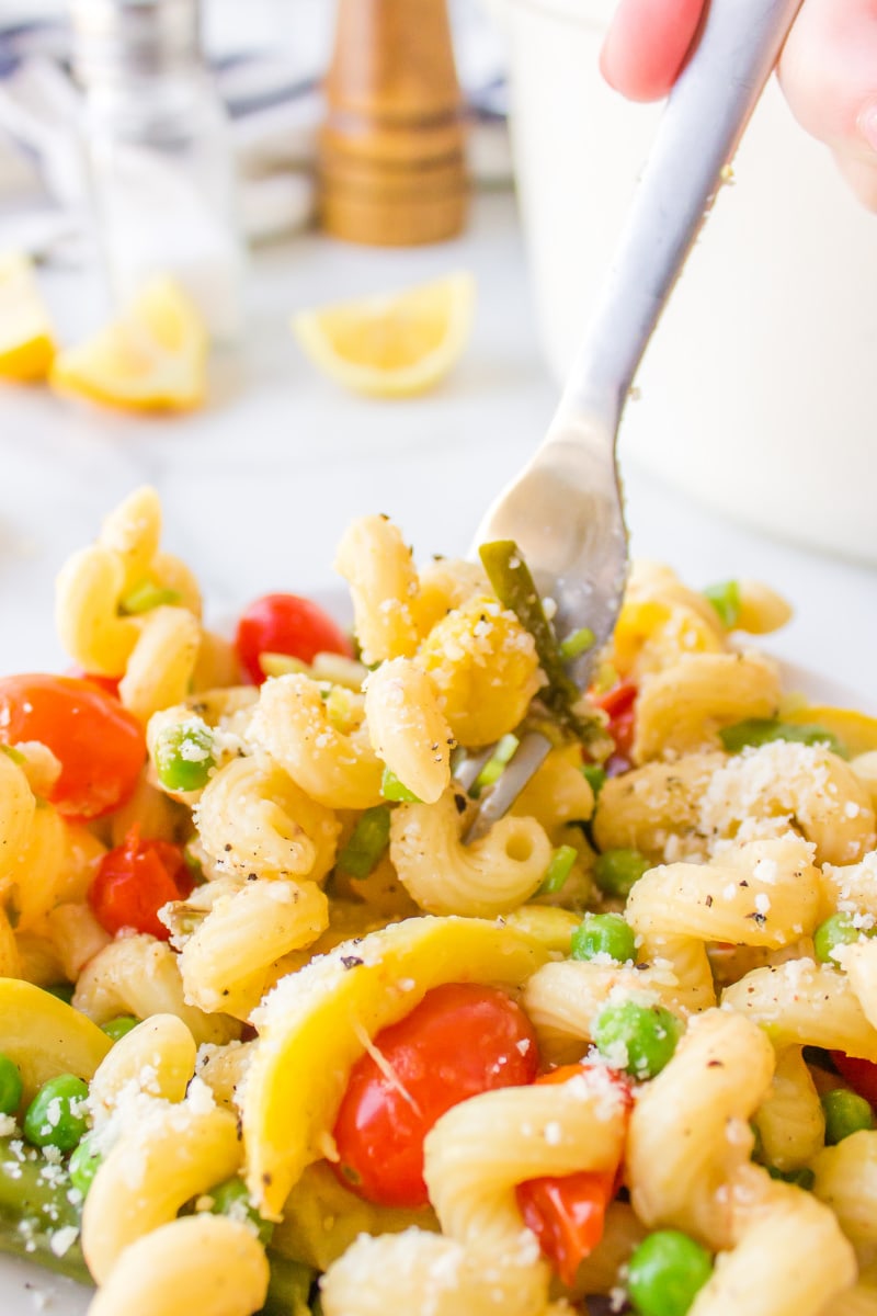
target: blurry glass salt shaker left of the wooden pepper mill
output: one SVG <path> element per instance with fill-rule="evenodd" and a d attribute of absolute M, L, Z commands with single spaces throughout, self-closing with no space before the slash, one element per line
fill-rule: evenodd
<path fill-rule="evenodd" d="M 96 237 L 126 304 L 171 275 L 214 340 L 241 328 L 243 243 L 199 0 L 70 0 Z"/>

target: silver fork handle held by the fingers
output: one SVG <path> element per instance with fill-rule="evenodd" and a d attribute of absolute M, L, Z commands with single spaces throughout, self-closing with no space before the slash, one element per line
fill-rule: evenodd
<path fill-rule="evenodd" d="M 650 336 L 802 0 L 707 0 L 659 124 L 561 411 L 618 420 Z"/>

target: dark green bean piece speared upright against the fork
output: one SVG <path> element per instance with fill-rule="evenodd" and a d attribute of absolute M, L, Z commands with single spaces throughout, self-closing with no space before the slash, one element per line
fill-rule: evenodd
<path fill-rule="evenodd" d="M 600 733 L 600 722 L 575 712 L 581 691 L 567 675 L 555 633 L 518 545 L 514 540 L 494 540 L 483 544 L 479 553 L 497 599 L 533 636 L 539 666 L 548 678 L 539 697 L 575 736 L 585 742 L 593 740 Z"/>

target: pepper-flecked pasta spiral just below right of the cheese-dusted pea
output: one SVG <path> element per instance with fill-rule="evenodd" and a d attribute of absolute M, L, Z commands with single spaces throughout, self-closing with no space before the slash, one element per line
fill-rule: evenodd
<path fill-rule="evenodd" d="M 221 769 L 204 788 L 195 821 L 218 873 L 320 882 L 335 859 L 334 813 L 267 754 Z"/>

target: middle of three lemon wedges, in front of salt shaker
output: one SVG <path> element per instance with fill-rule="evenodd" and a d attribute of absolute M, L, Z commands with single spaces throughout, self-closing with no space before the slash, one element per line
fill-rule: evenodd
<path fill-rule="evenodd" d="M 145 284 L 118 320 L 60 351 L 59 392 L 129 411 L 184 411 L 204 401 L 208 336 L 193 303 L 170 278 Z"/>

